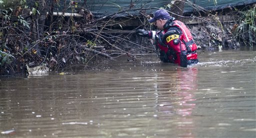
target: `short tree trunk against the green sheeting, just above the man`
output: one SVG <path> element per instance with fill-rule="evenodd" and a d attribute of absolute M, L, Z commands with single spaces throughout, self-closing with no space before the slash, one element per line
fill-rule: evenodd
<path fill-rule="evenodd" d="M 170 14 L 171 16 L 175 17 L 176 19 L 182 21 L 182 18 L 178 15 L 183 15 L 183 10 L 184 10 L 184 1 L 185 0 L 174 0 L 173 6 L 170 8 L 170 11 L 177 14 Z"/>

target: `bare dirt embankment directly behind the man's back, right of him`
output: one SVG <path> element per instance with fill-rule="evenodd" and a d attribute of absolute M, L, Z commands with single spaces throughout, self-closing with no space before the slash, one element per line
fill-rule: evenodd
<path fill-rule="evenodd" d="M 222 25 L 223 28 L 217 24 L 193 24 L 188 27 L 199 49 L 240 48 L 244 45 L 234 37 L 235 23 L 223 23 Z"/>

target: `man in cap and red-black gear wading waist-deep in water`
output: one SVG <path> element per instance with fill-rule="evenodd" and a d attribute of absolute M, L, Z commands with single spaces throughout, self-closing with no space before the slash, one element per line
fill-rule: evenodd
<path fill-rule="evenodd" d="M 136 34 L 155 40 L 161 61 L 176 63 L 182 67 L 198 62 L 197 46 L 191 32 L 183 22 L 171 17 L 165 9 L 155 11 L 149 22 L 160 31 L 138 29 Z"/>

